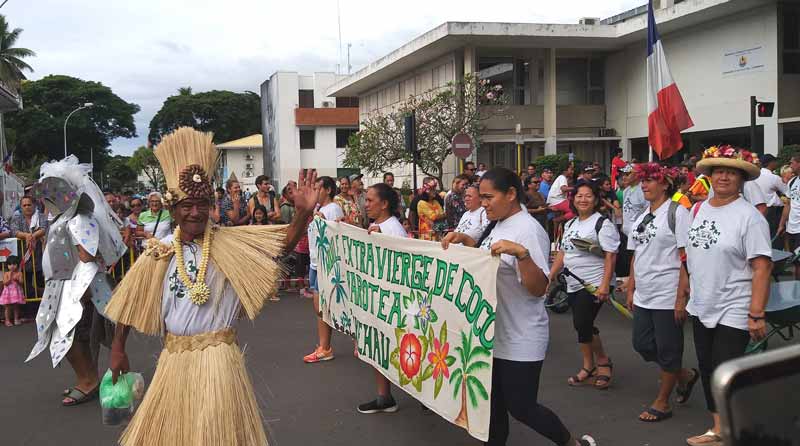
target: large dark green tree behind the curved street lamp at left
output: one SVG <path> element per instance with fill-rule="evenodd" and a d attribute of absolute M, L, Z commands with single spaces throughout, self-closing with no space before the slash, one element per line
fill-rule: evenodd
<path fill-rule="evenodd" d="M 21 85 L 25 108 L 5 116 L 6 134 L 13 140 L 15 168 L 24 170 L 36 156 L 61 159 L 64 156 L 64 119 L 77 106 L 94 106 L 72 115 L 67 127 L 70 154 L 89 162 L 94 152 L 95 170 L 110 159 L 108 149 L 115 138 L 136 137 L 133 115 L 139 106 L 122 98 L 99 82 L 52 75 Z M 23 156 L 24 155 L 24 156 Z"/>

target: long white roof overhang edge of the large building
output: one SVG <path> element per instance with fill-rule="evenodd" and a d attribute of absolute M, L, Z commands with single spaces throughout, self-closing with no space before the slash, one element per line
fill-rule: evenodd
<path fill-rule="evenodd" d="M 659 33 L 717 20 L 776 0 L 694 0 L 656 11 Z M 613 52 L 647 39 L 647 15 L 613 25 L 446 22 L 333 84 L 328 96 L 359 96 L 457 49 L 556 48 Z"/>

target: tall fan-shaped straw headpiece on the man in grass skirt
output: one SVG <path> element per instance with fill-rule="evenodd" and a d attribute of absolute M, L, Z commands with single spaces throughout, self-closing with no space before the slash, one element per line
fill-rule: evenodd
<path fill-rule="evenodd" d="M 180 127 L 165 136 L 154 153 L 164 171 L 164 202 L 176 205 L 186 198 L 211 199 L 211 176 L 217 166 L 217 148 L 211 133 Z"/>

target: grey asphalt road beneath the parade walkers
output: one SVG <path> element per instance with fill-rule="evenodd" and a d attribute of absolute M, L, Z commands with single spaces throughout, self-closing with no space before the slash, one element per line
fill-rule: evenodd
<path fill-rule="evenodd" d="M 334 336 L 334 361 L 304 364 L 302 356 L 315 344 L 311 303 L 296 293 L 270 302 L 255 323 L 239 326 L 264 423 L 271 445 L 352 444 L 394 446 L 479 445 L 460 428 L 423 411 L 413 398 L 395 389 L 400 410 L 394 414 L 361 415 L 356 406 L 372 399 L 374 377 L 369 366 L 353 357 L 353 343 Z M 701 386 L 690 402 L 675 408 L 675 416 L 657 424 L 636 420 L 657 390 L 657 368 L 644 363 L 630 346 L 630 322 L 610 306 L 601 311 L 598 327 L 615 364 L 610 390 L 571 388 L 569 375 L 580 367 L 570 314 L 551 316 L 550 349 L 542 374 L 540 401 L 553 409 L 575 433 L 589 432 L 602 446 L 679 446 L 710 425 Z M 120 427 L 101 423 L 96 401 L 61 407 L 60 392 L 73 384 L 66 365 L 52 369 L 42 354 L 23 360 L 33 346 L 35 329 L 0 327 L 0 443 L 3 445 L 89 446 L 116 444 Z M 685 364 L 696 358 L 687 329 Z M 132 334 L 128 340 L 131 366 L 149 381 L 155 370 L 160 340 Z M 104 352 L 101 364 L 107 363 Z M 513 422 L 509 445 L 549 442 Z"/>

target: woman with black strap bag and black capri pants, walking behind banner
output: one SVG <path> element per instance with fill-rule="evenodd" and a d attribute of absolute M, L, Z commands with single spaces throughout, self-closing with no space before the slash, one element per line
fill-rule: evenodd
<path fill-rule="evenodd" d="M 550 270 L 551 281 L 562 269 L 567 275 L 572 323 L 578 332 L 583 358 L 580 371 L 567 382 L 579 386 L 594 377 L 596 389 L 607 389 L 613 365 L 603 349 L 594 321 L 603 302 L 609 300 L 619 232 L 614 223 L 599 212 L 601 195 L 595 183 L 578 183 L 570 206 L 577 217 L 564 224 L 561 251 Z"/>

